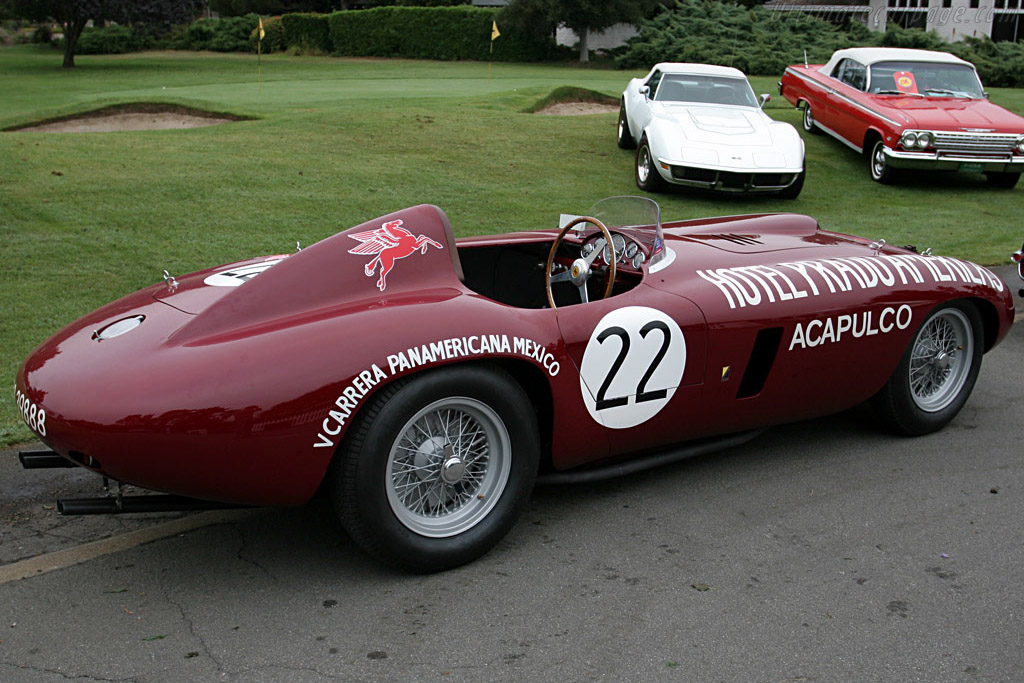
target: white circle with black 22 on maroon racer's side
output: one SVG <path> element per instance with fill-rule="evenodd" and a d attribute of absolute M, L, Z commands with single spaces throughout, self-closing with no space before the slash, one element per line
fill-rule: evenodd
<path fill-rule="evenodd" d="M 583 400 L 612 429 L 650 420 L 672 398 L 686 368 L 686 340 L 666 313 L 617 308 L 594 328 L 580 366 Z"/>

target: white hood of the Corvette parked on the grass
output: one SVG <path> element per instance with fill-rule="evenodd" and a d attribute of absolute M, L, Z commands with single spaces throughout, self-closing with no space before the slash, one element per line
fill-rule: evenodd
<path fill-rule="evenodd" d="M 716 145 L 772 144 L 771 128 L 760 110 L 714 104 L 665 104 L 662 114 L 676 123 L 687 140 Z"/>

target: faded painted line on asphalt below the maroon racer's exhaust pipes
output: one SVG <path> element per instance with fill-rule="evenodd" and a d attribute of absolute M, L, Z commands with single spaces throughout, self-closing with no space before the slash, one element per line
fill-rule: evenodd
<path fill-rule="evenodd" d="M 75 564 L 80 564 L 103 555 L 128 550 L 145 543 L 159 541 L 168 537 L 177 536 L 186 531 L 193 531 L 204 526 L 223 524 L 237 521 L 246 515 L 252 514 L 252 510 L 211 510 L 199 514 L 182 517 L 164 524 L 157 524 L 147 528 L 140 528 L 128 533 L 122 533 L 101 541 L 93 541 L 75 548 L 57 550 L 45 555 L 37 555 L 20 562 L 14 562 L 6 566 L 0 566 L 0 585 L 29 577 L 63 569 Z"/>

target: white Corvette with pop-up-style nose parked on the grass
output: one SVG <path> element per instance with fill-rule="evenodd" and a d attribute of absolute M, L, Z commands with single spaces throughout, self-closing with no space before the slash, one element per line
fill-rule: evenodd
<path fill-rule="evenodd" d="M 804 186 L 804 141 L 773 121 L 738 69 L 663 62 L 630 81 L 618 110 L 618 146 L 637 147 L 637 186 L 666 183 L 795 199 Z"/>

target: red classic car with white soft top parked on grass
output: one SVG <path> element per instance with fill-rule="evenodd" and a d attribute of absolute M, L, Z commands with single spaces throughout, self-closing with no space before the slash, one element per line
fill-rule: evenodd
<path fill-rule="evenodd" d="M 867 156 L 871 178 L 898 169 L 984 173 L 1013 187 L 1024 170 L 1024 118 L 988 101 L 974 66 L 946 52 L 837 50 L 826 65 L 788 67 L 779 93 L 823 130 Z"/>

